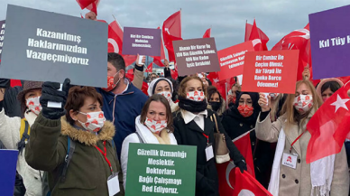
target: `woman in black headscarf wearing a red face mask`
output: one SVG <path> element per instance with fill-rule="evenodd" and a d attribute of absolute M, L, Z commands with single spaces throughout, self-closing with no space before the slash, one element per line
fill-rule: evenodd
<path fill-rule="evenodd" d="M 271 171 L 273 154 L 270 144 L 256 138 L 255 127 L 261 108 L 258 105 L 259 94 L 253 92 L 241 92 L 237 95 L 235 105 L 227 109 L 222 124 L 227 135 L 235 139 L 246 132 L 250 132 L 250 140 L 253 154 L 254 173 L 264 187 L 269 184 L 269 171 Z"/>

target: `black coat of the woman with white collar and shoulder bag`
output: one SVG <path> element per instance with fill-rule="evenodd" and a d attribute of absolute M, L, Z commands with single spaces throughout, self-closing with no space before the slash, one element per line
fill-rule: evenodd
<path fill-rule="evenodd" d="M 178 141 L 178 145 L 195 145 L 197 146 L 197 173 L 196 173 L 196 195 L 197 196 L 216 196 L 218 195 L 218 178 L 216 171 L 215 158 L 207 162 L 206 147 L 207 138 L 203 135 L 209 136 L 209 143 L 213 144 L 215 152 L 215 123 L 210 120 L 214 112 L 207 110 L 207 117 L 204 119 L 204 132 L 193 120 L 188 125 L 180 113 L 180 110 L 173 113 L 174 116 L 174 135 Z M 218 122 L 218 127 L 221 133 L 226 135 L 226 144 L 230 151 L 230 157 L 234 163 L 239 163 L 244 160 L 242 154 L 239 153 L 231 138 L 226 134 L 224 127 Z"/>

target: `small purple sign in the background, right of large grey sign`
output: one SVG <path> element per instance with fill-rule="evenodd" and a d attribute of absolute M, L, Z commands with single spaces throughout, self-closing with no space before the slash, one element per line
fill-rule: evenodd
<path fill-rule="evenodd" d="M 161 56 L 161 29 L 124 27 L 123 54 Z"/>

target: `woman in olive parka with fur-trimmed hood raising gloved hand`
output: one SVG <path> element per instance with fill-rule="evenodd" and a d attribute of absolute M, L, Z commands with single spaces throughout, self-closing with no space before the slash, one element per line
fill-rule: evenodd
<path fill-rule="evenodd" d="M 27 163 L 48 172 L 51 196 L 124 195 L 115 126 L 106 121 L 102 96 L 95 88 L 76 86 L 69 89 L 65 105 L 68 86 L 58 89 L 60 83 L 43 84 L 42 112 L 32 126 Z M 65 107 L 48 107 L 52 98 Z M 120 191 L 109 192 L 110 183 Z"/>

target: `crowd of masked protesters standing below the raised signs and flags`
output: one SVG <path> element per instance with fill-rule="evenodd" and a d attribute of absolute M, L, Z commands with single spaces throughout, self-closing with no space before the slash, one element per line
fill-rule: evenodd
<path fill-rule="evenodd" d="M 225 99 L 207 73 L 173 79 L 164 63 L 164 77 L 150 74 L 147 95 L 143 65 L 135 63 L 128 79 L 117 53 L 107 55 L 106 89 L 72 86 L 69 79 L 62 90 L 51 81 L 11 88 L 0 79 L 0 146 L 20 152 L 14 195 L 108 195 L 111 177 L 119 180 L 116 195 L 124 195 L 129 145 L 143 143 L 197 146 L 196 195 L 216 196 L 217 159 L 206 157 L 216 131 L 242 173 L 247 165 L 232 140 L 250 135 L 255 178 L 272 194 L 349 194 L 347 142 L 324 158 L 327 167 L 306 163 L 306 125 L 342 81 L 323 79 L 316 88 L 304 77 L 294 94 L 265 96 L 242 91 L 235 78 Z M 62 107 L 49 107 L 50 101 Z M 297 157 L 295 168 L 282 164 L 283 154 Z"/>

